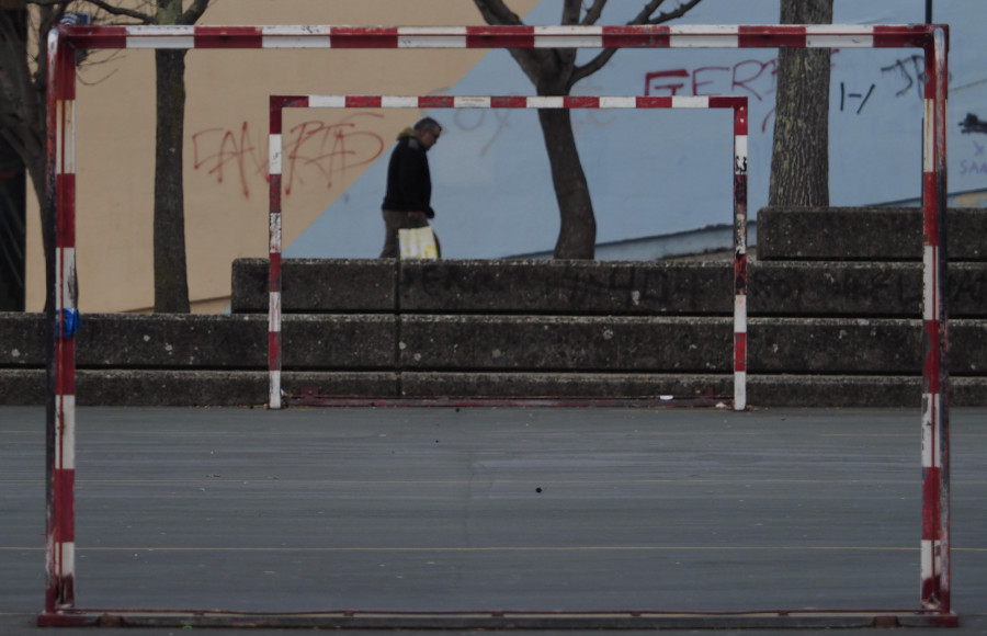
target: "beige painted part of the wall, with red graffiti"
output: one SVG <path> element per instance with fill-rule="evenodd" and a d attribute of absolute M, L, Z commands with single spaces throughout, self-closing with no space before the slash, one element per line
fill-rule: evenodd
<path fill-rule="evenodd" d="M 520 14 L 537 0 L 512 2 Z M 466 0 L 218 0 L 202 24 L 481 24 Z M 191 50 L 186 57 L 185 236 L 193 311 L 228 304 L 230 265 L 268 253 L 270 94 L 430 94 L 485 50 Z M 98 52 L 77 91 L 77 266 L 82 311 L 154 306 L 155 68 L 150 50 Z M 389 151 L 418 111 L 294 110 L 284 124 L 287 245 Z M 383 198 L 381 184 L 381 197 Z M 29 311 L 44 307 L 29 197 Z M 366 213 L 379 214 L 381 201 Z M 383 223 L 382 223 L 383 242 Z M 367 254 L 373 258 L 376 254 Z"/>

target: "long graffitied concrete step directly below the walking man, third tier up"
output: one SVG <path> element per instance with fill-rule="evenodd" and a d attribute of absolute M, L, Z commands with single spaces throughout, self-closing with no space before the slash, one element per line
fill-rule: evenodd
<path fill-rule="evenodd" d="M 287 260 L 285 314 L 730 316 L 718 262 Z M 987 262 L 950 268 L 950 315 L 987 317 Z M 266 314 L 266 259 L 238 259 L 232 311 Z M 753 261 L 751 316 L 919 317 L 919 262 Z"/>

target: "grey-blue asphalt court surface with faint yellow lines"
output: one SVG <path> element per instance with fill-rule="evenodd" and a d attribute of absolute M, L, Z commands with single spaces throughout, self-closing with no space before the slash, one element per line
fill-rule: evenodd
<path fill-rule="evenodd" d="M 920 420 L 917 408 L 80 408 L 76 604 L 917 610 Z M 0 408 L 0 634 L 54 629 L 34 626 L 44 432 L 43 408 Z M 948 633 L 987 634 L 987 409 L 953 409 L 951 441 L 961 626 Z"/>

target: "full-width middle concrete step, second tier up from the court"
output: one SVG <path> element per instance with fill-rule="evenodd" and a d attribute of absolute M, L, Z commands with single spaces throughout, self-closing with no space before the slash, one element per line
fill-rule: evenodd
<path fill-rule="evenodd" d="M 83 316 L 76 364 L 105 370 L 263 371 L 266 317 Z M 44 368 L 43 315 L 0 319 L 0 368 Z M 752 318 L 751 373 L 920 373 L 922 322 L 899 318 Z M 727 373 L 730 317 L 292 315 L 285 371 Z M 950 370 L 985 374 L 987 321 L 950 322 Z"/>

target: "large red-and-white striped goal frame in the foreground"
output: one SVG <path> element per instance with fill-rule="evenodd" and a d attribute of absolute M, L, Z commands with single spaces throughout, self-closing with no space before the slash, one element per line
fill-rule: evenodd
<path fill-rule="evenodd" d="M 48 34 L 44 216 L 55 231 L 49 289 L 47 538 L 43 625 L 93 624 L 75 604 L 76 53 L 89 48 L 921 48 L 922 133 L 922 537 L 920 609 L 895 613 L 955 625 L 951 609 L 946 95 L 949 26 L 93 26 Z M 789 613 L 775 616 L 778 626 Z M 883 614 L 882 614 L 883 615 Z M 132 617 L 133 618 L 133 617 Z M 876 620 L 876 617 L 875 617 Z M 183 623 L 186 624 L 186 623 Z M 491 626 L 498 624 L 490 621 Z M 551 624 L 551 621 L 545 625 Z M 644 625 L 644 622 L 642 622 Z"/>

